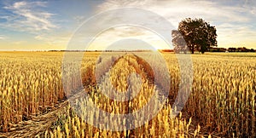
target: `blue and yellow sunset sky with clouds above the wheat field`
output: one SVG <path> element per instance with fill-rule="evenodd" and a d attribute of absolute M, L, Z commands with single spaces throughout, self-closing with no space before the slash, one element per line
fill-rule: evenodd
<path fill-rule="evenodd" d="M 124 8 L 142 9 L 159 17 L 145 14 L 141 18 L 142 13 L 135 10 L 126 13 L 135 17 L 134 24 L 116 26 L 119 20 L 125 23 Z M 106 15 L 116 9 L 116 13 Z M 219 48 L 256 49 L 253 0 L 3 0 L 0 1 L 0 50 L 70 49 L 72 46 L 77 49 L 76 45 L 79 49 L 110 49 L 116 45 L 118 48 L 114 49 L 140 49 L 142 41 L 154 49 L 172 49 L 166 43 L 168 38 L 163 41 L 161 35 L 171 34 L 169 29 L 177 29 L 185 18 L 202 18 L 216 26 Z M 172 27 L 161 26 L 163 19 Z M 94 22 L 88 24 L 88 20 Z M 148 28 L 136 25 L 137 21 L 147 22 L 145 26 L 156 24 Z"/>

